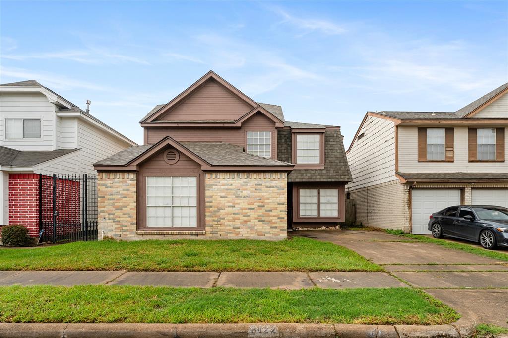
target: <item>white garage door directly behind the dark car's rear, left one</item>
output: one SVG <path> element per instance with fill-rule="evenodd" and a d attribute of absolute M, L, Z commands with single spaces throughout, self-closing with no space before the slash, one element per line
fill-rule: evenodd
<path fill-rule="evenodd" d="M 411 204 L 412 233 L 430 233 L 430 214 L 460 205 L 460 189 L 411 189 Z"/>

